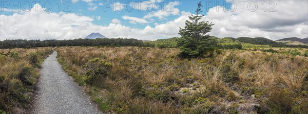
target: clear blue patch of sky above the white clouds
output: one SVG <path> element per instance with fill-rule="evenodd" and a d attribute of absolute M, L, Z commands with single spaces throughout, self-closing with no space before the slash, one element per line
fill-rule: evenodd
<path fill-rule="evenodd" d="M 29 2 L 31 3 L 31 5 L 28 4 Z M 109 23 L 111 22 L 113 18 L 117 18 L 121 21 L 123 25 L 135 27 L 135 28 L 144 28 L 147 25 L 155 26 L 155 23 L 163 24 L 169 20 L 174 20 L 179 15 L 170 15 L 170 16 L 165 17 L 164 19 L 153 17 L 153 19 L 155 19 L 155 22 L 150 22 L 148 24 L 131 24 L 129 23 L 129 20 L 123 19 L 122 16 L 127 15 L 131 17 L 143 18 L 143 16 L 148 14 L 149 12 L 156 12 L 156 11 L 162 10 L 162 5 L 164 5 L 165 7 L 164 9 L 165 12 L 172 11 L 174 10 L 174 8 L 181 9 L 187 12 L 195 12 L 197 3 L 200 1 L 160 1 L 160 2 L 156 2 L 156 1 L 82 1 L 82 0 L 79 0 L 76 2 L 74 1 L 35 1 L 35 2 L 29 1 L 29 2 L 8 1 L 9 3 L 8 6 L 6 5 L 7 2 L 3 2 L 1 4 L 1 8 L 12 9 L 13 12 L 3 11 L 1 13 L 5 15 L 12 15 L 16 13 L 18 9 L 11 8 L 13 6 L 12 4 L 14 5 L 20 4 L 20 10 L 23 11 L 23 10 L 29 9 L 29 6 L 32 7 L 33 5 L 35 5 L 35 3 L 38 3 L 43 8 L 46 9 L 45 11 L 49 11 L 49 12 L 63 11 L 66 13 L 75 13 L 78 15 L 93 17 L 95 18 L 93 23 L 96 25 L 107 26 L 109 25 Z M 142 2 L 147 2 L 146 4 L 148 4 L 148 7 L 146 5 L 138 6 L 138 4 L 141 4 Z M 216 3 L 215 1 L 214 4 L 213 2 L 210 2 L 208 3 L 208 5 L 206 5 L 207 2 L 204 2 L 204 7 L 202 8 L 204 10 L 203 14 L 206 14 L 209 8 L 215 7 L 217 5 L 223 5 L 223 2 L 225 1 L 218 1 L 218 2 L 219 3 Z M 124 7 L 122 8 L 117 7 L 116 9 L 118 10 L 113 11 L 114 6 L 112 5 L 116 3 L 122 3 Z M 135 3 L 135 4 L 132 5 L 132 3 Z M 61 10 L 59 9 L 60 4 L 61 4 Z M 107 4 L 107 5 L 104 5 L 104 4 Z M 155 4 L 155 6 L 151 7 L 153 4 Z M 170 5 L 170 8 L 167 5 Z M 134 9 L 132 8 L 132 6 L 134 7 Z M 168 8 L 166 8 L 166 6 Z M 97 8 L 94 8 L 94 7 L 97 7 Z M 148 10 L 140 10 L 140 7 L 147 7 Z M 122 9 L 123 11 L 119 11 L 120 9 Z M 101 17 L 100 20 L 96 19 L 96 17 L 98 16 Z"/>

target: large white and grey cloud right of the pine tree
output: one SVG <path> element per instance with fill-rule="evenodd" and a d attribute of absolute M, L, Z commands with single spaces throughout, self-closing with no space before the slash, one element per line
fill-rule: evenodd
<path fill-rule="evenodd" d="M 209 33 L 218 37 L 266 37 L 277 40 L 285 37 L 308 37 L 308 9 L 307 1 L 275 1 L 277 6 L 267 6 L 264 11 L 262 3 L 255 1 L 259 6 L 255 11 L 254 5 L 247 7 L 246 1 L 241 11 L 240 5 L 233 5 L 235 11 L 224 11 L 221 6 L 209 9 L 204 20 L 209 20 L 215 25 Z M 268 3 L 267 3 L 268 4 Z M 250 9 L 248 9 L 250 8 Z M 232 9 L 232 10 L 233 10 Z"/>

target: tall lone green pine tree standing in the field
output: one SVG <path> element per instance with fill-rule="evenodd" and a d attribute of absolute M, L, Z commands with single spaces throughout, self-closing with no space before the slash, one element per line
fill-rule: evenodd
<path fill-rule="evenodd" d="M 200 14 L 202 12 L 201 7 L 203 6 L 199 2 L 196 14 L 188 16 L 189 20 L 185 21 L 185 28 L 180 27 L 179 34 L 182 36 L 178 40 L 178 47 L 181 50 L 180 57 L 210 56 L 213 55 L 217 47 L 216 39 L 210 38 L 207 34 L 214 24 L 204 20 L 200 21 L 204 16 Z"/>

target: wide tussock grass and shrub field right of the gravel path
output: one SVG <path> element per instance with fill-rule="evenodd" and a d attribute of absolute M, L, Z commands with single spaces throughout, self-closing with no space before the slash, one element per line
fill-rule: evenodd
<path fill-rule="evenodd" d="M 308 112 L 307 49 L 265 48 L 218 50 L 213 58 L 191 60 L 170 48 L 56 51 L 64 70 L 105 112 Z"/>

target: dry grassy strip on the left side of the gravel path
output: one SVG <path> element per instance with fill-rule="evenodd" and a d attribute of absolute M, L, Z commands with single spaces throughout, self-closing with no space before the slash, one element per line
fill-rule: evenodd
<path fill-rule="evenodd" d="M 50 48 L 0 50 L 0 113 L 29 109 L 41 62 Z"/>

